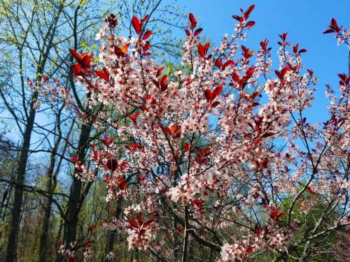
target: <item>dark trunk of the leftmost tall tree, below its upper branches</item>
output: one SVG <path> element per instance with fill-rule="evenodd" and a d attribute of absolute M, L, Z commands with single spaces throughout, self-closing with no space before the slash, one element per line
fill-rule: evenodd
<path fill-rule="evenodd" d="M 20 158 L 18 159 L 18 170 L 16 173 L 15 198 L 13 201 L 12 216 L 10 221 L 10 233 L 8 234 L 8 245 L 6 249 L 6 262 L 14 262 L 16 259 L 16 242 L 18 236 L 18 227 L 20 225 L 20 214 L 23 201 L 23 186 L 25 182 L 25 171 L 28 160 L 29 145 L 31 132 L 33 131 L 36 110 L 34 109 L 34 101 L 38 98 L 38 93 L 34 92 L 31 99 L 31 110 L 27 119 L 23 144 L 20 150 Z"/>

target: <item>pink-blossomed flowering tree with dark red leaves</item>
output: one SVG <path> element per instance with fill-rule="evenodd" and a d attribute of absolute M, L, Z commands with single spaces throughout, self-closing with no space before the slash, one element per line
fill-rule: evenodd
<path fill-rule="evenodd" d="M 282 34 L 276 70 L 267 40 L 253 61 L 238 43 L 253 8 L 232 16 L 235 34 L 214 48 L 190 13 L 182 71 L 156 64 L 148 16 L 132 18 L 132 38 L 116 36 L 109 16 L 97 64 L 71 50 L 90 107 L 109 108 L 94 126 L 116 133 L 92 145 L 94 168 L 73 160 L 80 179 L 103 177 L 106 201 L 128 203 L 105 226 L 125 233 L 129 249 L 158 261 L 316 261 L 324 239 L 350 224 L 349 75 L 339 74 L 339 96 L 327 89 L 328 121 L 308 123 L 307 50 Z M 349 46 L 334 19 L 325 33 Z"/>

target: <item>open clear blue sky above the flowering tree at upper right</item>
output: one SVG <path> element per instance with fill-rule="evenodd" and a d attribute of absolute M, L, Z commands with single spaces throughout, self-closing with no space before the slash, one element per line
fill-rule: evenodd
<path fill-rule="evenodd" d="M 330 19 L 335 17 L 338 24 L 350 26 L 350 0 L 179 0 L 180 6 L 186 6 L 185 12 L 200 17 L 202 34 L 218 43 L 225 33 L 232 33 L 235 20 L 231 15 L 239 15 L 239 8 L 248 8 L 255 4 L 251 20 L 255 26 L 248 31 L 246 45 L 258 50 L 260 41 L 269 39 L 272 52 L 279 48 L 279 34 L 288 32 L 292 44 L 300 43 L 306 48 L 302 55 L 307 68 L 312 68 L 318 77 L 318 90 L 315 94 L 314 108 L 307 111 L 310 122 L 320 122 L 327 117 L 325 106 L 325 84 L 337 88 L 337 73 L 348 72 L 348 48 L 337 46 L 330 34 L 322 34 Z M 185 34 L 183 33 L 183 36 Z M 276 61 L 276 59 L 274 59 Z M 278 61 L 276 61 L 278 62 Z M 274 64 L 278 67 L 278 63 Z"/>

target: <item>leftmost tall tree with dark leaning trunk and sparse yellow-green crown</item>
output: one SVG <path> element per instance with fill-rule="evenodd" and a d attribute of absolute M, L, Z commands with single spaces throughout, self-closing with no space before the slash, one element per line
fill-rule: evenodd
<path fill-rule="evenodd" d="M 22 185 L 25 181 L 26 166 L 29 154 L 29 146 L 31 143 L 31 133 L 34 128 L 34 119 L 36 117 L 36 104 L 38 99 L 38 92 L 34 92 L 29 97 L 29 101 L 26 101 L 27 97 L 25 94 L 25 53 L 31 52 L 33 56 L 33 62 L 36 68 L 36 78 L 35 85 L 38 88 L 41 85 L 42 76 L 45 70 L 50 51 L 54 47 L 55 43 L 54 36 L 57 31 L 57 22 L 62 10 L 64 8 L 64 1 L 59 1 L 57 3 L 50 3 L 50 6 L 55 10 L 50 15 L 45 12 L 45 8 L 41 10 L 39 6 L 46 4 L 43 1 L 40 3 L 34 1 L 32 5 L 23 6 L 21 3 L 17 4 L 9 3 L 8 1 L 1 1 L 2 12 L 5 13 L 6 21 L 4 24 L 10 28 L 11 36 L 15 42 L 15 48 L 19 54 L 18 61 L 18 73 L 20 78 L 20 83 L 22 85 L 22 108 L 25 117 L 21 120 L 24 121 L 23 126 L 19 125 L 20 118 L 13 110 L 13 105 L 10 105 L 8 99 L 6 98 L 3 91 L 0 92 L 3 102 L 8 107 L 8 111 L 18 123 L 18 128 L 22 131 L 22 145 L 20 147 L 20 155 L 18 158 L 18 170 L 15 175 L 15 182 L 17 186 L 15 187 L 15 198 L 13 201 L 12 217 L 10 221 L 10 233 L 8 235 L 8 245 L 6 252 L 6 262 L 15 261 L 16 256 L 16 240 L 18 235 L 18 226 L 20 224 L 20 212 L 22 208 L 23 199 L 23 188 Z M 16 17 L 17 20 L 13 20 Z M 43 27 L 41 20 L 46 23 Z M 34 38 L 36 43 L 35 47 L 32 47 L 32 41 L 29 38 Z"/>

